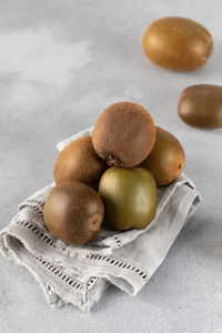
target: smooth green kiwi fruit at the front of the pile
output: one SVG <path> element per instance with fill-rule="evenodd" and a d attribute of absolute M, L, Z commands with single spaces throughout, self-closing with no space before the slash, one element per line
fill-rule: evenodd
<path fill-rule="evenodd" d="M 155 215 L 155 180 L 144 168 L 108 169 L 101 176 L 99 193 L 104 203 L 104 224 L 109 229 L 143 229 Z"/>

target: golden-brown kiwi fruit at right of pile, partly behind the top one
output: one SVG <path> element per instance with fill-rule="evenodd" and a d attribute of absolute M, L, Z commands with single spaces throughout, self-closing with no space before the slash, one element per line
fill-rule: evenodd
<path fill-rule="evenodd" d="M 174 135 L 160 127 L 155 129 L 155 144 L 141 167 L 152 172 L 158 186 L 163 186 L 180 175 L 185 164 L 185 153 Z"/>

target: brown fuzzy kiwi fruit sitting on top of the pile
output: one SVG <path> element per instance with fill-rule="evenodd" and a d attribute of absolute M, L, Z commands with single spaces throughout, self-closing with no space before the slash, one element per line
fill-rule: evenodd
<path fill-rule="evenodd" d="M 110 167 L 134 167 L 151 152 L 155 141 L 154 122 L 148 111 L 133 102 L 118 102 L 99 117 L 92 144 Z"/>

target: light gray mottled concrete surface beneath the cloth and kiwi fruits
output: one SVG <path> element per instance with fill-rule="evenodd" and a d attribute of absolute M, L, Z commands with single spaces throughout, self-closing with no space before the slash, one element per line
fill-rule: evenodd
<path fill-rule="evenodd" d="M 221 11 L 215 0 L 0 0 L 0 228 L 51 182 L 56 143 L 120 100 L 141 103 L 179 138 L 203 198 L 145 287 L 131 297 L 111 286 L 91 313 L 50 309 L 30 273 L 1 258 L 2 333 L 222 332 L 222 130 L 176 115 L 186 85 L 221 83 Z M 144 58 L 141 36 L 165 16 L 211 31 L 214 52 L 201 70 L 169 72 Z"/>

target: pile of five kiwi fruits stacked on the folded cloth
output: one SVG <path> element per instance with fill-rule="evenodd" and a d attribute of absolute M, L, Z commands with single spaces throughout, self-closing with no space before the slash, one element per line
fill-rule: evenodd
<path fill-rule="evenodd" d="M 71 245 L 91 242 L 101 225 L 117 231 L 144 229 L 155 215 L 157 186 L 172 183 L 184 163 L 180 142 L 155 127 L 145 109 L 133 102 L 111 104 L 92 135 L 59 153 L 56 186 L 43 209 L 46 225 Z"/>

